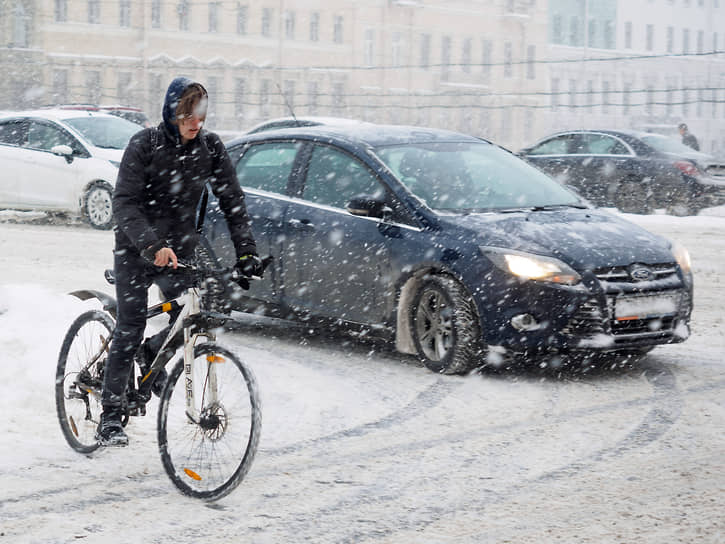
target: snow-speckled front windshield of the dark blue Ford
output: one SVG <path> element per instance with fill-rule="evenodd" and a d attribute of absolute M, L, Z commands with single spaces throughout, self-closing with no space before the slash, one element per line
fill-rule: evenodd
<path fill-rule="evenodd" d="M 376 153 L 428 207 L 487 211 L 577 206 L 579 198 L 515 155 L 481 143 L 410 143 Z"/>

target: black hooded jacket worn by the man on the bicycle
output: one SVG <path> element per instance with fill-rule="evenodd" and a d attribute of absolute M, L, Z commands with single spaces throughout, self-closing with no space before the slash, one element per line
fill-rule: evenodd
<path fill-rule="evenodd" d="M 197 209 L 209 183 L 237 256 L 256 254 L 244 193 L 221 139 L 201 130 L 182 144 L 172 122 L 178 100 L 191 83 L 176 78 L 166 93 L 163 122 L 135 134 L 126 147 L 113 192 L 117 252 L 140 253 L 165 241 L 177 256 L 191 256 L 198 242 Z"/>

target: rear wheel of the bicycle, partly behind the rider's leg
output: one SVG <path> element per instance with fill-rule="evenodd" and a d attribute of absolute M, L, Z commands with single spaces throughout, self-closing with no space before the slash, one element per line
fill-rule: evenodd
<path fill-rule="evenodd" d="M 70 447 L 80 453 L 91 453 L 99 447 L 95 434 L 102 411 L 103 365 L 114 328 L 115 322 L 108 313 L 85 312 L 68 328 L 58 356 L 55 374 L 58 422 Z M 99 353 L 98 360 L 87 369 L 79 385 L 81 372 Z"/>

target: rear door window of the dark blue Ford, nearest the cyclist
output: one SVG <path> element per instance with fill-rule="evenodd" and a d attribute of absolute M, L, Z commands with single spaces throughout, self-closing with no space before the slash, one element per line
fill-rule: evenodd
<path fill-rule="evenodd" d="M 237 162 L 242 187 L 285 194 L 295 157 L 301 144 L 274 142 L 251 146 Z"/>

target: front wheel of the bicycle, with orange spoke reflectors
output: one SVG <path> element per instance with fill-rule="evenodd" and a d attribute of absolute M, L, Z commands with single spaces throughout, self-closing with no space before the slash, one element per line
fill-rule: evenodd
<path fill-rule="evenodd" d="M 249 471 L 262 412 L 257 382 L 233 353 L 213 342 L 172 369 L 161 395 L 158 442 L 171 481 L 185 495 L 217 500 Z"/>

